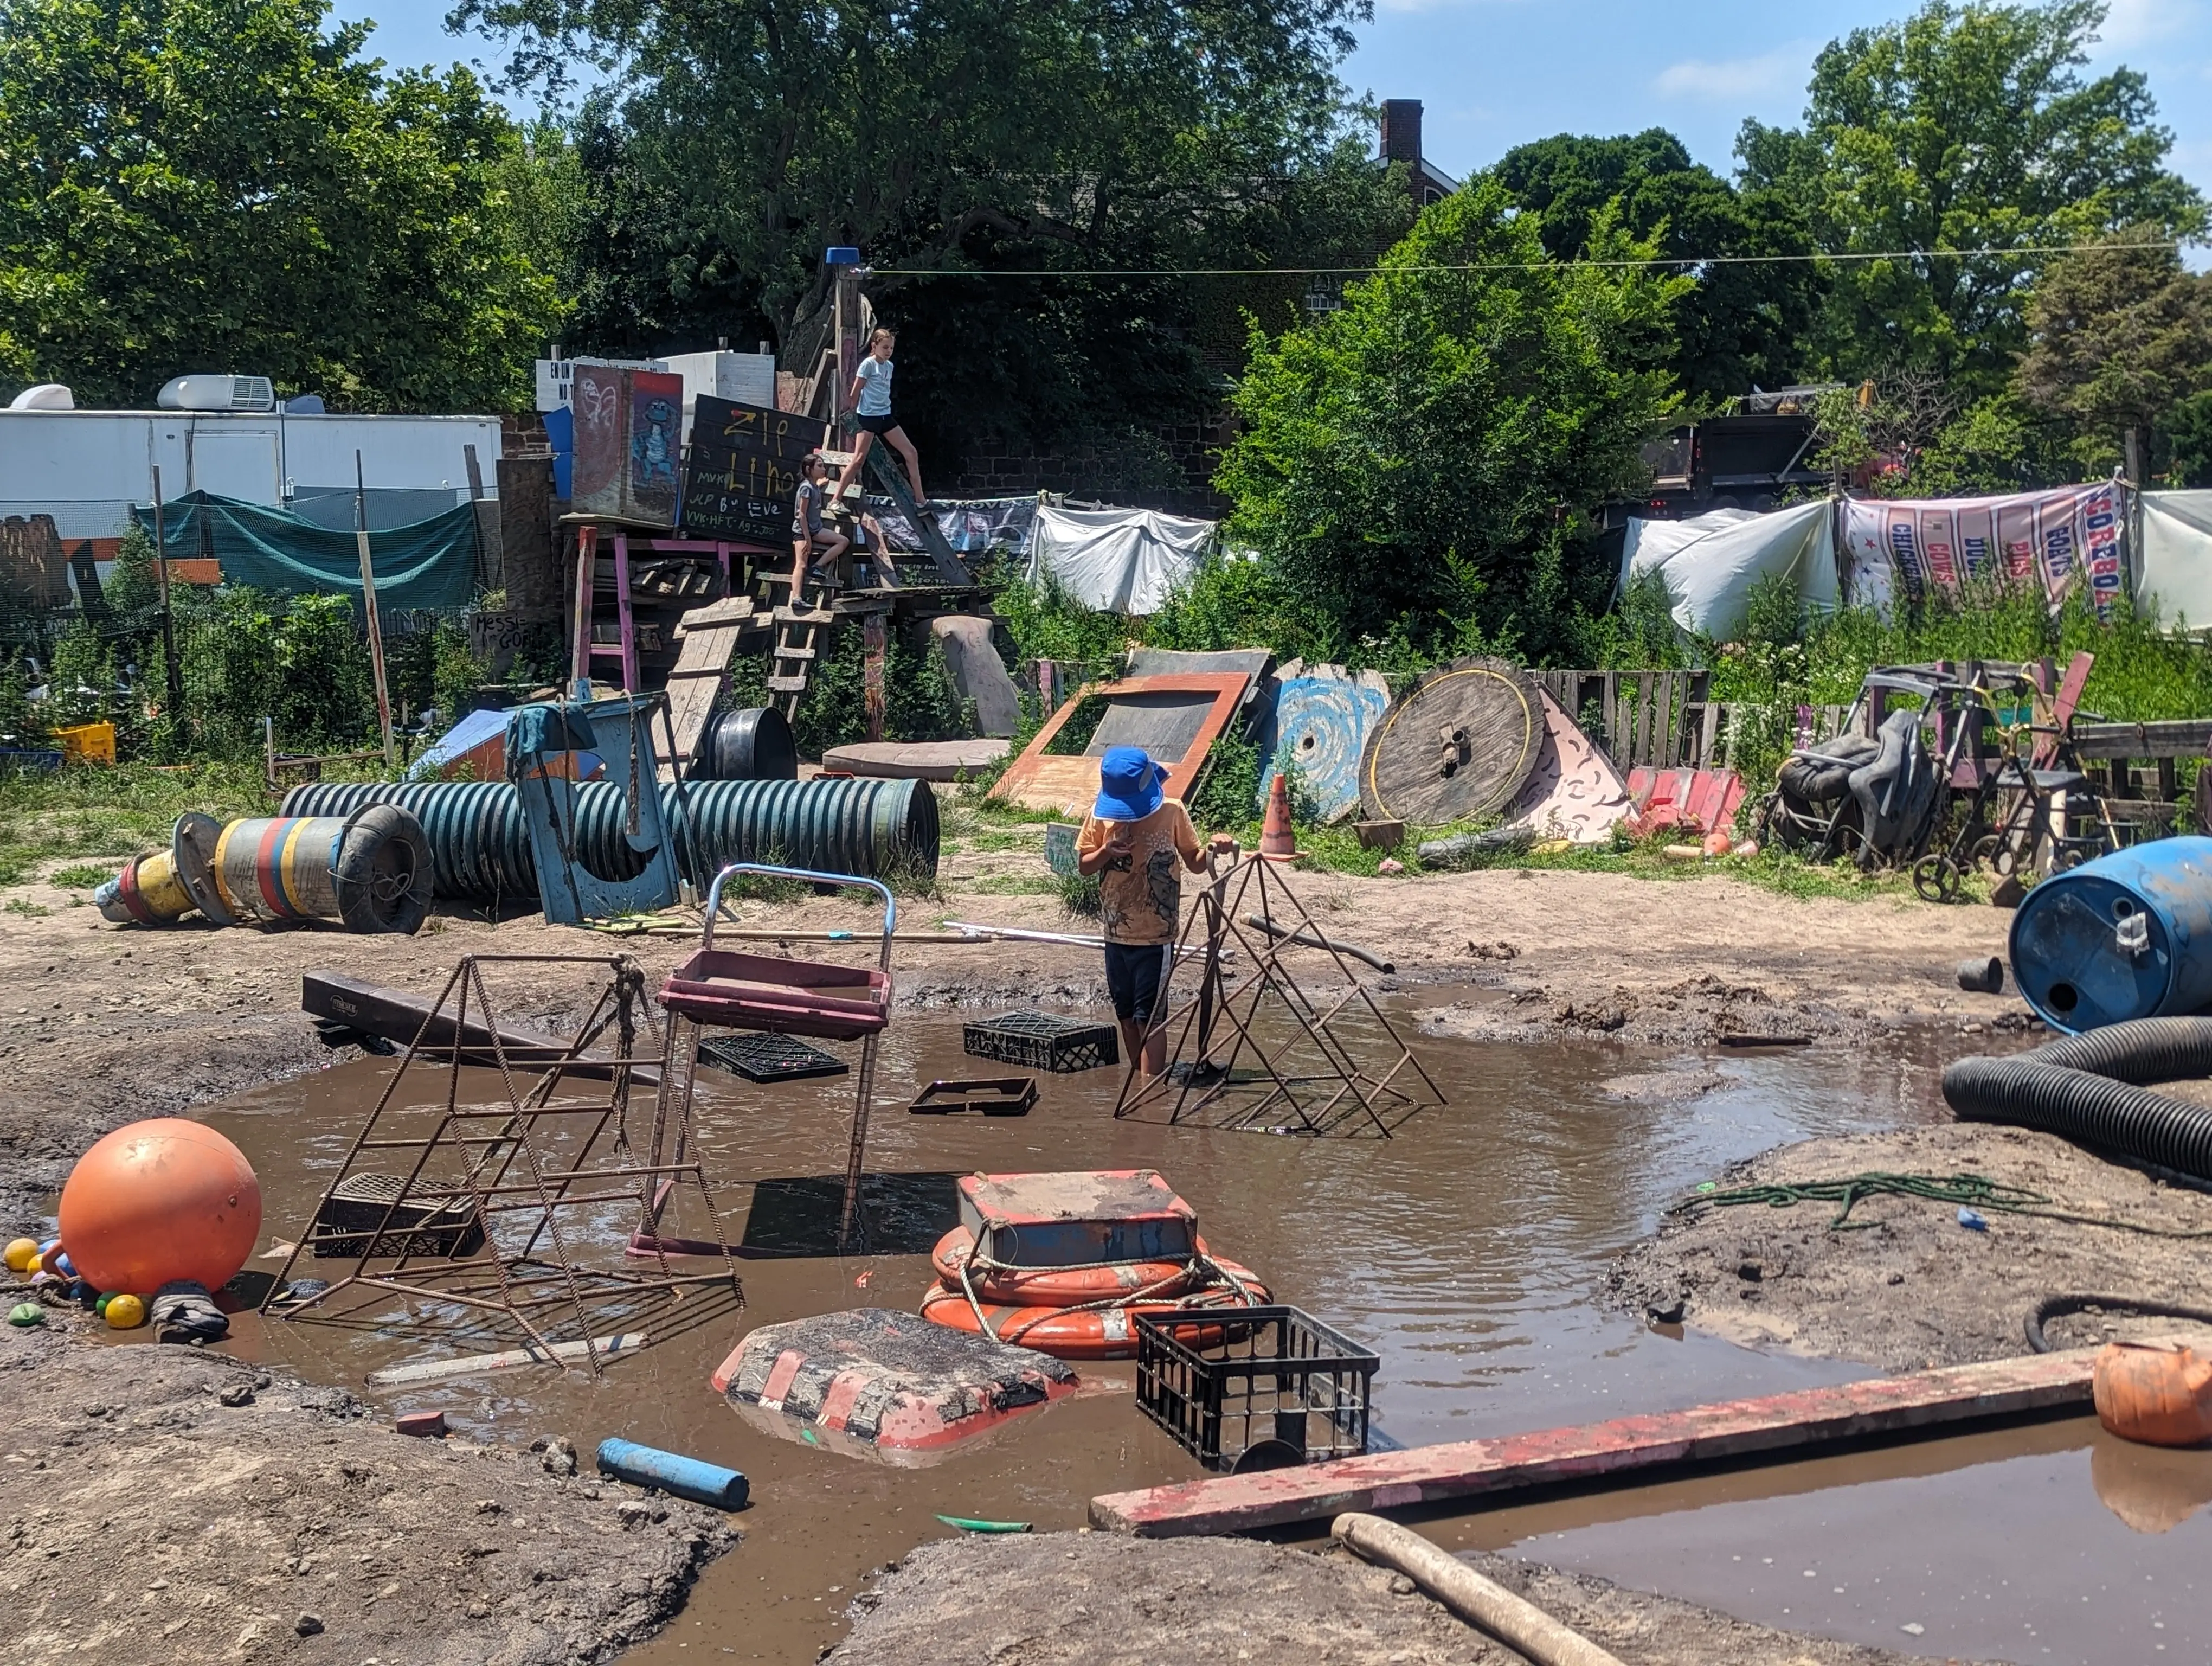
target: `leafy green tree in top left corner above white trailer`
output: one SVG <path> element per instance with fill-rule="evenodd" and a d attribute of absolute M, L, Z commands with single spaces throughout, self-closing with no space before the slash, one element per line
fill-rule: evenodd
<path fill-rule="evenodd" d="M 522 137 L 367 33 L 325 0 L 0 0 L 0 376 L 518 405 L 560 316 L 509 197 Z"/>

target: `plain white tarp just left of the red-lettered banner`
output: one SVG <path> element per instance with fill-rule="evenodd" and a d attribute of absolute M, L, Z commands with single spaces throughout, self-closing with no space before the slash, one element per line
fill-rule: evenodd
<path fill-rule="evenodd" d="M 1674 597 L 1674 624 L 1730 639 L 1743 628 L 1752 586 L 1781 575 L 1807 608 L 1832 613 L 1836 511 L 1825 498 L 1754 516 L 1714 509 L 1692 520 L 1630 520 L 1626 575 L 1657 571 Z"/>

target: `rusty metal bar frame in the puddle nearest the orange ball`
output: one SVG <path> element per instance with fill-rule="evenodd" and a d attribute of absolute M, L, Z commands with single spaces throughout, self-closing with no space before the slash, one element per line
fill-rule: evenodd
<path fill-rule="evenodd" d="M 608 976 L 573 1038 L 533 1047 L 518 1044 L 513 1031 L 502 1027 L 484 985 L 487 965 L 591 967 Z M 648 1033 L 661 1031 L 657 1066 L 637 1058 L 639 1016 Z M 557 1363 L 551 1347 L 560 1325 L 549 1312 L 564 1310 L 571 1341 L 584 1343 L 591 1374 L 599 1376 L 593 1305 L 655 1290 L 679 1299 L 690 1285 L 728 1285 L 743 1301 L 737 1263 L 721 1232 L 692 1133 L 690 1060 L 675 1055 L 677 1031 L 677 1024 L 653 1022 L 644 971 L 628 956 L 462 956 L 361 1133 L 354 1135 L 345 1162 L 323 1188 L 283 1272 L 263 1297 L 261 1312 L 283 1319 L 336 1319 L 332 1301 L 347 1290 L 392 1292 L 504 1316 Z M 608 1033 L 613 1051 L 595 1051 Z M 431 1040 L 434 1035 L 440 1040 Z M 469 1100 L 462 1066 L 498 1071 L 500 1093 L 491 1100 Z M 394 1111 L 403 1086 L 425 1071 L 445 1077 L 442 1106 L 434 1106 L 436 1126 L 427 1135 L 394 1131 L 389 1120 L 414 1111 L 414 1106 Z M 575 1095 L 575 1084 L 584 1080 L 604 1080 L 606 1095 L 577 1102 L 582 1095 Z M 684 1082 L 681 1093 L 670 1091 L 677 1080 Z M 641 1139 L 633 1137 L 633 1124 L 644 1120 L 635 1089 L 653 1091 L 653 1113 L 639 1128 Z M 573 1153 L 549 1150 L 553 1139 L 573 1139 Z M 361 1164 L 367 1153 L 403 1153 L 403 1162 L 405 1153 L 411 1153 L 411 1168 L 398 1195 L 369 1230 L 325 1226 L 325 1210 L 338 1186 L 349 1175 L 365 1173 Z M 449 1159 L 447 1168 L 460 1170 L 458 1179 L 436 1175 L 438 1157 Z M 686 1181 L 699 1188 L 714 1237 L 684 1241 L 681 1252 L 719 1254 L 719 1272 L 672 1270 L 668 1248 L 655 1237 L 672 1190 Z M 602 1268 L 580 1261 L 577 1246 L 562 1230 L 562 1210 L 626 1201 L 637 1204 L 637 1230 L 624 1254 L 655 1259 L 657 1268 Z M 467 1210 L 465 1219 L 482 1230 L 482 1246 L 462 1252 L 467 1239 L 456 1237 L 447 1254 L 416 1254 L 407 1237 L 420 1224 L 403 1219 L 403 1210 L 429 1210 L 431 1219 L 447 1221 Z M 507 1243 L 500 1232 L 502 1217 L 520 1217 L 520 1226 L 504 1232 Z M 513 1241 L 518 1235 L 520 1246 Z M 279 1294 L 301 1254 L 312 1254 L 316 1243 L 341 1239 L 361 1239 L 352 1272 L 301 1303 L 279 1305 Z M 394 1241 L 403 1254 L 376 1254 L 378 1246 Z"/>

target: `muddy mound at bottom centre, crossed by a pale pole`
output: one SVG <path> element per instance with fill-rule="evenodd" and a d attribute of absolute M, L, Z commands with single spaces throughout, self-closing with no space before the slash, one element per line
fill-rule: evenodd
<path fill-rule="evenodd" d="M 1626 1666 L 1902 1666 L 1887 1648 L 1770 1631 L 1712 1608 L 1500 1555 L 1469 1564 Z M 1022 1602 L 1051 1591 L 1048 1604 Z M 1511 1666 L 1522 1655 L 1356 1555 L 1252 1540 L 1037 1533 L 940 1540 L 854 1602 L 830 1666 Z M 1172 1637 L 1172 1644 L 1166 1639 Z"/>

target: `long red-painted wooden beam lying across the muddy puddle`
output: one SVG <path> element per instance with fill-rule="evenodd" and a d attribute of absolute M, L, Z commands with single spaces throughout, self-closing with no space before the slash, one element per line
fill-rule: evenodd
<path fill-rule="evenodd" d="M 1913 1376 L 1723 1401 L 1502 1440 L 1455 1440 L 1367 1458 L 1186 1480 L 1091 1500 L 1091 1524 L 1175 1538 L 1310 1522 L 1444 1498 L 1593 1480 L 1655 1465 L 1801 1451 L 1829 1440 L 1907 1434 L 1942 1423 L 2088 1405 L 2095 1347 L 1993 1358 Z"/>

